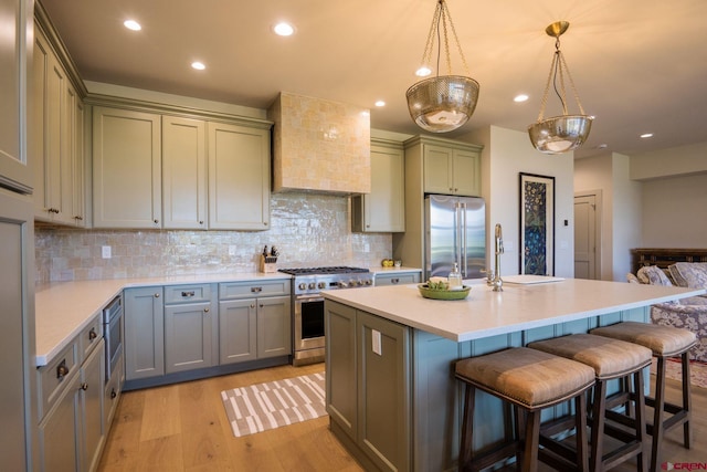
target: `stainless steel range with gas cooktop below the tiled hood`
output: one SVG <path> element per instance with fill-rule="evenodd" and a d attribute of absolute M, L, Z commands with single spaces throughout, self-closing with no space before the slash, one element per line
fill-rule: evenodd
<path fill-rule="evenodd" d="M 293 365 L 304 366 L 324 361 L 324 297 L 323 290 L 373 286 L 368 269 L 334 266 L 279 269 L 294 275 L 293 293 Z"/>

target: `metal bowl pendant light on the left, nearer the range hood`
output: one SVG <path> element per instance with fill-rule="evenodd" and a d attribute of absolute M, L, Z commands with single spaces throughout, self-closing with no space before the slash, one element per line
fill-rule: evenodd
<path fill-rule="evenodd" d="M 449 24 L 447 24 L 449 22 Z M 452 75 L 452 61 L 450 55 L 450 42 L 447 31 L 456 42 L 456 49 L 466 72 L 466 76 Z M 442 32 L 444 38 L 442 38 Z M 447 75 L 440 75 L 440 56 L 442 53 L 442 39 L 444 39 L 444 53 L 446 57 Z M 423 69 L 431 73 L 431 59 L 434 42 L 437 43 L 436 76 L 425 78 L 408 88 L 408 109 L 410 116 L 422 129 L 432 133 L 452 132 L 463 124 L 474 113 L 478 101 L 478 82 L 468 77 L 468 66 L 462 52 L 460 40 L 452 23 L 452 17 L 445 0 L 437 0 L 432 25 L 428 34 L 428 42 L 422 54 Z M 418 75 L 426 75 L 418 71 Z"/>

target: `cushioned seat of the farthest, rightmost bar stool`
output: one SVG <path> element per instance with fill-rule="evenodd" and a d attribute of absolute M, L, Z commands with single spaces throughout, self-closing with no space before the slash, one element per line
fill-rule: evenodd
<path fill-rule="evenodd" d="M 662 357 L 682 354 L 697 343 L 697 336 L 688 329 L 650 323 L 623 322 L 592 329 L 591 334 L 640 344 Z"/>

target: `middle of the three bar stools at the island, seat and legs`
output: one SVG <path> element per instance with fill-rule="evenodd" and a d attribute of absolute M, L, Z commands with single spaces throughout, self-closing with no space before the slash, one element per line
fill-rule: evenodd
<path fill-rule="evenodd" d="M 556 356 L 577 360 L 594 369 L 597 384 L 591 406 L 591 454 L 590 470 L 603 471 L 614 468 L 626 460 L 637 458 L 637 470 L 646 470 L 645 398 L 643 392 L 643 369 L 651 365 L 651 349 L 632 343 L 591 334 L 574 334 L 528 344 Z M 606 408 L 606 384 L 613 379 L 633 378 L 635 396 L 635 418 L 619 415 Z M 627 413 L 627 411 L 626 411 Z M 615 422 L 631 426 L 633 429 L 616 427 Z M 604 453 L 603 436 L 609 434 L 623 444 Z"/>

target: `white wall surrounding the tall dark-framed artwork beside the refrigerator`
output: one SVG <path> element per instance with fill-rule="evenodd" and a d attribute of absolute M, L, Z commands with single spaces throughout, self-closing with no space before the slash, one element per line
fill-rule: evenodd
<path fill-rule="evenodd" d="M 482 193 L 487 202 L 487 247 L 494 248 L 494 227 L 504 230 L 505 253 L 500 273 L 520 272 L 519 174 L 555 177 L 555 274 L 574 275 L 574 183 L 572 154 L 549 156 L 537 151 L 527 133 L 490 126 L 465 136 L 469 143 L 484 145 L 482 153 Z M 562 222 L 568 220 L 568 225 Z M 489 263 L 493 263 L 493 254 Z"/>

